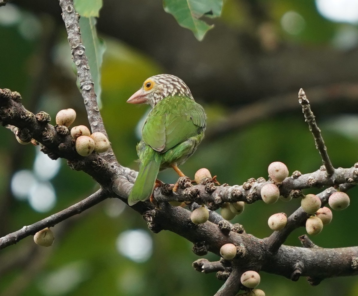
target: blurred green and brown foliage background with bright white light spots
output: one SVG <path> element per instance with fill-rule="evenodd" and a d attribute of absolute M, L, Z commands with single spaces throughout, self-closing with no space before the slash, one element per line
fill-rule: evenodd
<path fill-rule="evenodd" d="M 107 50 L 102 65 L 102 117 L 118 161 L 137 169 L 135 145 L 145 106 L 126 104 L 145 78 L 182 78 L 208 115 L 207 139 L 183 166 L 188 176 L 206 167 L 221 183 L 267 177 L 272 161 L 292 173 L 319 169 L 321 160 L 297 103 L 306 91 L 335 167 L 358 159 L 357 1 L 227 0 L 202 42 L 163 10 L 161 1 L 104 0 L 98 34 Z M 0 88 L 23 96 L 33 112 L 74 108 L 87 116 L 76 87 L 57 1 L 19 0 L 0 7 Z M 269 105 L 267 103 L 269 102 Z M 266 104 L 266 105 L 265 105 Z M 243 108 L 245 116 L 234 112 Z M 229 118 L 229 120 L 228 120 Z M 54 120 L 52 122 L 54 124 Z M 66 161 L 49 161 L 0 129 L 0 236 L 85 198 L 97 186 Z M 173 183 L 172 171 L 160 179 Z M 319 192 L 318 190 L 307 190 Z M 320 247 L 357 246 L 357 189 L 351 205 L 312 238 Z M 273 213 L 291 214 L 299 200 L 257 202 L 232 220 L 259 238 L 269 236 Z M 347 227 L 349 225 L 349 228 Z M 348 229 L 347 229 L 348 228 Z M 222 282 L 191 267 L 192 244 L 174 233 L 151 233 L 119 200 L 102 202 L 53 228 L 50 248 L 32 237 L 0 252 L 0 295 L 213 295 Z M 300 228 L 286 244 L 300 246 Z M 209 260 L 217 256 L 208 254 Z M 358 295 L 356 277 L 311 287 L 301 278 L 261 272 L 266 295 Z"/>

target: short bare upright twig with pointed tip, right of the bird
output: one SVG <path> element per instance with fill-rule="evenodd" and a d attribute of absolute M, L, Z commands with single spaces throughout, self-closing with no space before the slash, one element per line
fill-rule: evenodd
<path fill-rule="evenodd" d="M 302 106 L 302 112 L 305 115 L 306 122 L 309 125 L 310 131 L 313 134 L 314 141 L 316 143 L 316 148 L 319 151 L 319 154 L 321 155 L 322 162 L 326 168 L 327 176 L 330 177 L 334 173 L 334 168 L 329 160 L 329 156 L 327 154 L 327 148 L 324 145 L 324 141 L 321 135 L 321 130 L 318 128 L 315 116 L 313 115 L 313 112 L 311 111 L 310 102 L 308 101 L 305 92 L 301 88 L 298 92 L 298 101 Z"/>

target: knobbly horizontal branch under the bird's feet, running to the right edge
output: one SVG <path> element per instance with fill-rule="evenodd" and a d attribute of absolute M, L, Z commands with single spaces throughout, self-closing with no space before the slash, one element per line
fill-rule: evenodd
<path fill-rule="evenodd" d="M 309 174 L 301 174 L 295 171 L 292 176 L 282 181 L 280 185 L 281 195 L 287 196 L 292 190 L 301 190 L 305 188 L 321 188 L 323 186 L 334 186 L 338 184 L 351 183 L 358 181 L 358 165 L 352 168 L 338 168 L 330 177 L 327 176 L 323 168 Z M 207 204 L 210 209 L 217 209 L 224 202 L 233 203 L 243 201 L 248 204 L 261 199 L 261 188 L 266 183 L 271 183 L 265 179 L 249 179 L 242 185 L 228 186 L 223 184 L 216 186 L 212 180 L 203 180 L 198 185 L 192 185 L 187 177 L 179 178 L 179 187 L 175 193 L 168 186 L 162 186 L 154 192 L 154 198 L 157 202 L 166 202 L 176 200 L 179 202 L 195 201 L 198 204 Z M 297 196 L 296 196 L 297 197 Z"/>

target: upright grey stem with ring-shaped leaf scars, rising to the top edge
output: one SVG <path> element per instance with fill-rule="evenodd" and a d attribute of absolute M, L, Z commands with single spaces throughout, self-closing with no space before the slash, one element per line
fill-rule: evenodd
<path fill-rule="evenodd" d="M 59 0 L 62 9 L 62 18 L 66 26 L 68 43 L 71 46 L 73 62 L 76 65 L 79 86 L 82 90 L 84 106 L 86 107 L 88 122 L 92 132 L 102 132 L 108 138 L 105 126 L 103 124 L 100 108 L 97 104 L 94 83 L 91 72 L 89 71 L 88 59 L 85 48 L 81 40 L 81 31 L 79 29 L 79 15 L 73 7 L 72 0 Z M 108 149 L 102 156 L 110 162 L 117 162 L 112 148 Z"/>

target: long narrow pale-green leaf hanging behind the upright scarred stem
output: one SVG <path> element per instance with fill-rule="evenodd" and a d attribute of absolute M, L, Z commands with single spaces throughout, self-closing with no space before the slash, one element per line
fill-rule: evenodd
<path fill-rule="evenodd" d="M 95 83 L 98 106 L 101 107 L 101 66 L 106 45 L 102 39 L 97 37 L 95 17 L 81 17 L 79 19 L 79 26 L 81 28 L 82 42 L 86 48 L 89 70 Z"/>

